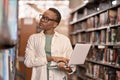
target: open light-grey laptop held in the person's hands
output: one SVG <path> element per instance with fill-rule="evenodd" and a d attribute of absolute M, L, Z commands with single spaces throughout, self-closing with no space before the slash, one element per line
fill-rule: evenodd
<path fill-rule="evenodd" d="M 66 64 L 67 66 L 74 66 L 77 64 L 84 64 L 86 56 L 91 48 L 91 44 L 75 44 L 74 50 L 71 54 L 69 63 Z M 50 69 L 57 68 L 57 65 L 52 65 L 49 67 Z"/>

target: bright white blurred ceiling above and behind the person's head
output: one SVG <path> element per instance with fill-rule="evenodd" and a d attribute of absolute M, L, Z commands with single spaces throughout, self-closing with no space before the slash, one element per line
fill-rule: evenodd
<path fill-rule="evenodd" d="M 19 18 L 38 17 L 49 7 L 57 8 L 63 19 L 70 13 L 69 0 L 19 0 Z"/>

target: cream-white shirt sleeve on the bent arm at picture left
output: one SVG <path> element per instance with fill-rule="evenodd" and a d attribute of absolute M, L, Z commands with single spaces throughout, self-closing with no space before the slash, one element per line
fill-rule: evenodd
<path fill-rule="evenodd" d="M 43 66 L 47 64 L 46 57 L 41 57 L 39 55 L 35 56 L 36 51 L 34 47 L 34 38 L 31 36 L 28 39 L 26 50 L 25 50 L 25 60 L 24 64 L 26 67 L 35 67 L 35 66 Z"/>

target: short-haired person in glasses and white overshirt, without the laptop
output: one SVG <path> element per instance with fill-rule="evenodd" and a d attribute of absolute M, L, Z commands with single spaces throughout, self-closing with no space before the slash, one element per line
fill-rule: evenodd
<path fill-rule="evenodd" d="M 66 73 L 73 69 L 65 65 L 73 51 L 69 38 L 54 29 L 61 20 L 55 8 L 49 8 L 40 15 L 40 33 L 28 39 L 25 51 L 25 65 L 32 67 L 31 80 L 66 80 Z"/>

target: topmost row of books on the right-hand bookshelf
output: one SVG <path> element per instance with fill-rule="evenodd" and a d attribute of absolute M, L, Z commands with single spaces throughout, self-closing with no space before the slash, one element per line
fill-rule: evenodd
<path fill-rule="evenodd" d="M 84 18 L 85 16 L 88 16 L 90 14 L 99 12 L 101 10 L 106 10 L 112 7 L 112 0 L 102 0 L 101 2 L 93 2 L 89 3 L 86 6 L 80 8 L 77 12 L 72 13 L 72 19 L 71 21 L 77 21 L 78 19 Z M 116 1 L 116 5 L 120 4 L 119 0 Z"/>

